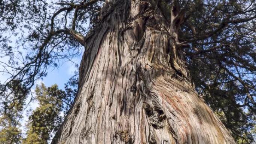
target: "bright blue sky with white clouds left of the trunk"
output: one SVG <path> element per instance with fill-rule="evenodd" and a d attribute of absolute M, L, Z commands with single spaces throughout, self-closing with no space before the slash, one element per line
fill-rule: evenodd
<path fill-rule="evenodd" d="M 52 0 L 46 0 L 47 3 L 49 5 L 53 4 L 54 2 L 56 1 L 52 1 Z M 48 9 L 48 13 L 51 14 L 53 13 L 52 11 L 53 9 Z M 63 14 L 63 13 L 61 13 Z M 67 19 L 68 23 L 70 23 L 72 21 L 72 19 Z M 89 22 L 89 19 L 88 19 L 88 22 Z M 89 23 L 86 23 L 84 24 L 84 28 L 88 28 L 89 27 Z M 17 36 L 14 36 L 12 34 L 12 32 L 6 32 L 4 34 L 2 34 L 3 36 L 8 36 L 10 40 L 12 40 L 12 42 L 9 43 L 10 46 L 13 46 L 13 48 L 15 48 L 18 44 L 15 43 L 15 40 L 18 39 L 17 37 L 23 35 L 24 37 L 26 37 L 29 33 L 29 30 L 25 29 L 24 28 L 24 31 L 22 31 L 21 33 L 19 33 Z M 24 46 L 26 47 L 26 46 Z M 16 50 L 16 49 L 15 49 Z M 22 55 L 25 56 L 26 53 L 29 52 L 30 49 L 17 49 L 18 51 L 21 51 L 22 52 Z M 0 51 L 0 56 L 1 56 L 1 52 Z M 4 52 L 3 52 L 4 53 Z M 81 53 L 83 53 L 83 50 L 81 50 Z M 0 62 L 6 62 L 8 63 L 8 57 L 0 57 Z M 75 62 L 76 64 L 80 65 L 80 61 L 82 59 L 82 54 L 73 58 L 72 61 Z M 66 59 L 65 59 L 66 60 Z M 68 80 L 70 79 L 70 77 L 72 77 L 74 75 L 74 72 L 77 71 L 77 67 L 75 66 L 75 64 L 71 62 L 71 61 L 66 61 L 64 62 L 62 65 L 59 65 L 58 68 L 53 68 L 53 67 L 49 67 L 48 70 L 47 70 L 47 76 L 46 77 L 43 77 L 43 79 L 41 80 L 37 80 L 35 83 L 40 85 L 40 83 L 44 83 L 45 86 L 52 86 L 54 84 L 57 84 L 58 87 L 60 89 L 64 89 L 64 84 L 68 82 Z M 4 70 L 4 64 L 0 64 L 0 71 Z M 10 70 L 8 68 L 8 70 Z M 0 82 L 1 83 L 4 83 L 6 81 L 6 79 L 9 78 L 8 75 L 3 75 L 3 73 L 0 72 Z M 33 86 L 33 88 L 31 89 L 31 91 L 33 92 L 34 89 L 35 89 L 36 85 Z M 33 95 L 34 96 L 34 95 Z M 28 96 L 27 98 L 27 103 L 30 101 L 31 99 L 31 95 Z M 30 102 L 29 106 L 27 107 L 27 109 L 25 109 L 23 111 L 23 119 L 21 120 L 21 124 L 22 124 L 22 131 L 25 132 L 25 123 L 26 121 L 28 120 L 28 116 L 27 116 L 27 110 L 28 109 L 31 109 L 31 110 L 34 110 L 36 107 L 38 106 L 38 102 L 36 101 L 33 101 L 33 102 Z"/>

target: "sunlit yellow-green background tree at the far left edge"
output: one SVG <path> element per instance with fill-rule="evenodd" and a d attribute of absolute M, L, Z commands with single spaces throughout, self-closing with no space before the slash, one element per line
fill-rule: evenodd
<path fill-rule="evenodd" d="M 24 89 L 13 81 L 8 85 L 11 92 L 11 99 L 3 102 L 0 116 L 0 144 L 21 144 L 22 132 L 20 129 L 22 119 L 22 110 L 25 105 Z"/>

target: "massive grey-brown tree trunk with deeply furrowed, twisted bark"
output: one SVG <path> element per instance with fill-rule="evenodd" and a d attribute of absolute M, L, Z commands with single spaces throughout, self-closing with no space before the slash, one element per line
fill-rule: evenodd
<path fill-rule="evenodd" d="M 189 79 L 178 6 L 167 21 L 153 0 L 108 0 L 101 16 L 52 144 L 234 144 Z"/>

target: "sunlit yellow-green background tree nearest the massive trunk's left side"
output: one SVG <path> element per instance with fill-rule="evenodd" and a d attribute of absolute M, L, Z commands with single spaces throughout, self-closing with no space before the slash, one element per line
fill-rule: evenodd
<path fill-rule="evenodd" d="M 51 133 L 57 131 L 63 121 L 61 111 L 65 92 L 59 90 L 57 85 L 46 88 L 43 83 L 36 86 L 35 91 L 39 107 L 29 116 L 27 137 L 23 144 L 47 144 Z"/>

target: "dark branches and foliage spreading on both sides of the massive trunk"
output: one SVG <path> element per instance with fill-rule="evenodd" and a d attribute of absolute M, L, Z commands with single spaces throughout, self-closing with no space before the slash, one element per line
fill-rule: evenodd
<path fill-rule="evenodd" d="M 255 0 L 149 1 L 167 20 L 171 5 L 180 6 L 179 53 L 196 91 L 238 143 L 255 143 Z M 11 111 L 18 116 L 30 89 L 50 67 L 80 54 L 81 40 L 86 42 L 104 21 L 104 4 L 103 0 L 0 0 L 0 56 L 7 59 L 0 60 L 0 73 L 9 76 L 0 84 L 3 117 L 13 102 L 21 101 Z"/>

